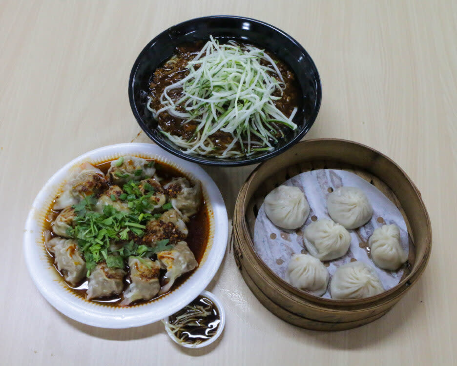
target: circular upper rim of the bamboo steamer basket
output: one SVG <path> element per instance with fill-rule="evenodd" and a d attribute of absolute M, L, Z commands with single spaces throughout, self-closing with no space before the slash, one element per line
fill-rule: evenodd
<path fill-rule="evenodd" d="M 266 166 L 270 166 L 271 163 L 277 162 L 281 159 L 284 159 L 285 154 L 288 152 L 292 152 L 293 150 L 300 150 L 302 148 L 308 148 L 312 149 L 313 146 L 316 144 L 322 144 L 322 143 L 336 143 L 341 146 L 354 146 L 357 147 L 358 149 L 366 150 L 366 152 L 370 152 L 375 160 L 381 159 L 387 162 L 388 164 L 391 165 L 392 168 L 395 168 L 397 172 L 400 174 L 402 179 L 404 179 L 405 183 L 408 183 L 413 190 L 413 193 L 415 195 L 415 199 L 419 205 L 419 209 L 421 211 L 421 215 L 423 216 L 423 219 L 425 221 L 425 230 L 427 232 L 427 237 L 425 238 L 425 251 L 424 254 L 421 258 L 418 260 L 416 259 L 416 263 L 414 264 L 414 267 L 411 271 L 410 274 L 408 274 L 402 281 L 400 281 L 399 284 L 395 285 L 391 289 L 384 291 L 378 295 L 371 296 L 368 298 L 363 298 L 363 299 L 351 299 L 351 300 L 334 300 L 334 299 L 324 299 L 319 296 L 314 296 L 311 295 L 310 293 L 307 293 L 305 291 L 299 290 L 298 288 L 293 287 L 289 283 L 287 283 L 285 280 L 281 279 L 279 276 L 277 276 L 275 273 L 271 271 L 271 269 L 260 259 L 260 257 L 257 255 L 257 253 L 254 250 L 254 245 L 252 242 L 252 238 L 249 234 L 249 229 L 248 229 L 248 224 L 246 222 L 246 209 L 247 205 L 249 203 L 250 197 L 247 200 L 247 195 L 248 195 L 248 189 L 249 186 L 252 184 L 254 181 L 255 177 L 257 174 L 262 172 L 264 169 L 266 169 Z M 296 298 L 298 297 L 299 299 L 302 299 L 307 302 L 307 305 L 310 306 L 316 306 L 316 308 L 319 308 L 321 306 L 325 306 L 328 308 L 329 306 L 335 307 L 335 310 L 338 308 L 344 308 L 349 306 L 350 308 L 355 307 L 360 307 L 361 309 L 366 309 L 366 305 L 374 305 L 380 306 L 386 302 L 391 302 L 398 296 L 402 296 L 403 293 L 412 285 L 415 284 L 416 280 L 420 277 L 422 272 L 424 271 L 429 257 L 430 257 L 430 252 L 431 252 L 431 246 L 432 246 L 432 230 L 431 230 L 431 222 L 430 222 L 430 217 L 428 215 L 427 209 L 425 208 L 425 204 L 422 201 L 421 195 L 415 184 L 412 182 L 412 180 L 408 177 L 406 172 L 400 168 L 392 159 L 387 157 L 386 155 L 382 154 L 381 152 L 364 145 L 359 142 L 353 142 L 349 140 L 342 140 L 342 139 L 311 139 L 303 142 L 299 142 L 296 145 L 292 146 L 291 149 L 278 156 L 275 158 L 270 159 L 269 161 L 266 161 L 264 163 L 259 164 L 248 176 L 246 179 L 245 183 L 240 189 L 240 192 L 238 194 L 238 198 L 235 203 L 235 210 L 234 210 L 234 218 L 233 218 L 233 231 L 234 231 L 234 239 L 235 242 L 239 243 L 245 243 L 246 245 L 243 245 L 243 249 L 247 250 L 248 254 L 248 260 L 252 264 L 253 268 L 256 268 L 256 265 L 258 266 L 256 270 L 261 274 L 262 271 L 264 274 L 266 274 L 274 283 L 276 283 L 278 286 L 278 291 L 283 293 L 283 296 L 286 298 L 290 298 L 292 301 L 295 301 Z M 312 161 L 313 158 L 311 159 L 306 159 L 304 161 Z M 325 156 L 319 156 L 316 157 L 315 160 L 324 160 L 324 159 L 329 159 L 329 157 Z M 333 161 L 337 162 L 340 161 L 341 163 L 347 163 L 344 162 L 342 159 L 334 159 L 332 158 Z M 351 163 L 353 164 L 353 163 Z M 291 164 L 289 164 L 291 165 Z M 354 164 L 353 164 L 354 165 Z M 284 168 L 287 167 L 288 164 L 284 164 Z M 370 171 L 370 166 L 362 166 L 360 165 L 361 168 L 367 169 L 369 172 Z M 272 171 L 268 177 L 273 175 L 275 172 Z M 377 176 L 376 173 L 371 173 L 375 176 Z M 267 177 L 267 178 L 268 178 Z M 380 179 L 380 178 L 379 178 Z M 381 181 L 383 181 L 381 179 Z M 243 250 L 240 248 L 241 252 Z M 262 269 L 262 271 L 260 271 Z M 365 306 L 364 306 L 365 305 Z M 353 309 L 355 310 L 355 309 Z M 353 311 L 352 310 L 352 311 Z"/>

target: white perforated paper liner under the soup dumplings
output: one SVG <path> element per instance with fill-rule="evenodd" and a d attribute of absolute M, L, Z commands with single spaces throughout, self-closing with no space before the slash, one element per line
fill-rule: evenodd
<path fill-rule="evenodd" d="M 299 187 L 305 194 L 310 204 L 310 215 L 300 228 L 286 230 L 275 226 L 265 213 L 265 205 L 262 204 L 254 226 L 253 243 L 257 255 L 267 264 L 270 269 L 285 280 L 285 272 L 291 260 L 292 254 L 306 253 L 306 246 L 303 240 L 303 230 L 320 219 L 330 219 L 327 211 L 327 198 L 331 190 L 341 186 L 358 187 L 362 189 L 373 206 L 374 214 L 371 220 L 361 227 L 348 230 L 351 234 L 351 247 L 348 252 L 340 258 L 325 262 L 330 275 L 332 276 L 337 267 L 342 264 L 357 260 L 368 264 L 377 272 L 384 289 L 390 289 L 400 282 L 404 265 L 397 271 L 384 270 L 377 267 L 369 257 L 367 250 L 368 239 L 375 228 L 383 224 L 396 224 L 400 228 L 401 244 L 408 253 L 408 229 L 401 212 L 379 189 L 373 184 L 360 178 L 356 174 L 337 169 L 317 169 L 298 174 L 283 185 Z M 363 246 L 363 247 L 361 247 Z M 331 299 L 330 292 L 322 297 Z"/>

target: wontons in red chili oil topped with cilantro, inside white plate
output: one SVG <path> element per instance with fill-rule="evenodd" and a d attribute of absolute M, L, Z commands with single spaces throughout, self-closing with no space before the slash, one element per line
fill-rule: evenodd
<path fill-rule="evenodd" d="M 75 295 L 133 306 L 173 290 L 198 266 L 206 210 L 201 183 L 164 163 L 85 162 L 49 209 L 45 246 L 70 290 L 78 286 Z"/>

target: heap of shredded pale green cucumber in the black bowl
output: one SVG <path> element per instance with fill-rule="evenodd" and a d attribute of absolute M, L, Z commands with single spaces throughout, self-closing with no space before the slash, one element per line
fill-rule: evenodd
<path fill-rule="evenodd" d="M 285 83 L 276 63 L 264 50 L 239 46 L 234 41 L 219 44 L 210 36 L 198 55 L 187 63 L 187 69 L 187 77 L 164 89 L 161 109 L 150 107 L 151 98 L 147 102 L 155 118 L 166 111 L 182 119 L 183 125 L 197 123 L 189 140 L 161 131 L 185 153 L 220 158 L 251 155 L 273 149 L 278 134 L 284 136 L 280 124 L 297 128 L 292 122 L 297 108 L 288 118 L 274 105 L 280 97 L 273 93 L 279 91 L 282 95 Z M 178 88 L 182 89 L 179 99 L 168 95 Z M 209 139 L 217 131 L 233 138 L 225 150 Z M 241 151 L 234 149 L 237 143 Z"/>

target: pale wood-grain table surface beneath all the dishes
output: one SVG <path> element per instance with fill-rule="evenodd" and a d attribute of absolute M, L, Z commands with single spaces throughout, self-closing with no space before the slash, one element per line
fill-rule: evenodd
<path fill-rule="evenodd" d="M 127 98 L 130 68 L 166 27 L 212 14 L 267 21 L 297 39 L 322 79 L 306 138 L 365 143 L 393 158 L 422 193 L 434 244 L 418 284 L 383 318 L 313 332 L 288 325 L 251 294 L 228 254 L 208 287 L 227 326 L 214 346 L 186 350 L 161 324 L 109 330 L 54 310 L 23 259 L 23 226 L 46 180 L 78 155 L 148 139 Z M 0 2 L 0 364 L 457 364 L 456 1 Z M 221 172 L 231 219 L 253 166 Z"/>

